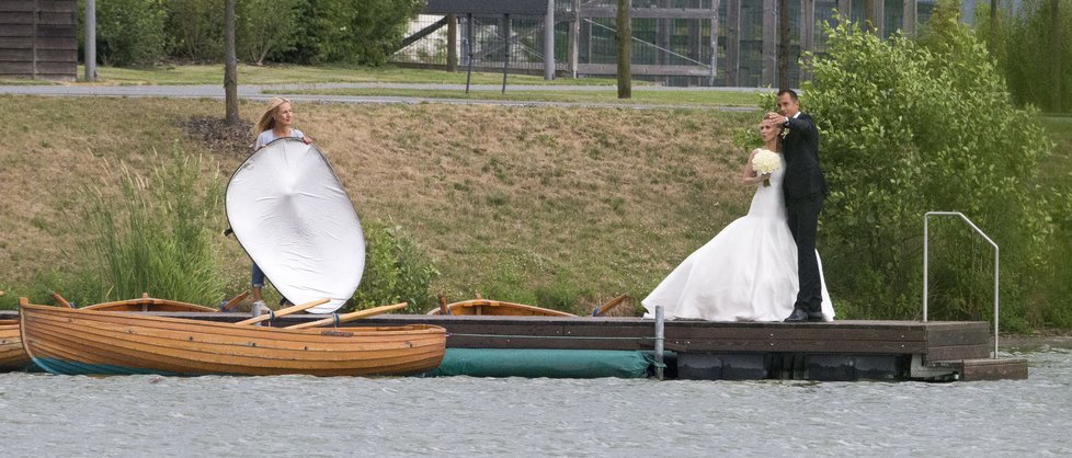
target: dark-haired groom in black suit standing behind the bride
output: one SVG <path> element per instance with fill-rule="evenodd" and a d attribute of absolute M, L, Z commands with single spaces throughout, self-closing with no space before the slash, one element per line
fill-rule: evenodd
<path fill-rule="evenodd" d="M 819 213 L 826 198 L 826 180 L 819 168 L 819 129 L 814 121 L 800 113 L 797 93 L 778 91 L 778 113 L 767 113 L 766 119 L 782 124 L 782 151 L 786 160 L 782 183 L 786 197 L 789 231 L 797 243 L 797 275 L 800 290 L 792 305 L 789 322 L 822 321 L 822 284 L 816 257 L 816 229 Z"/>

